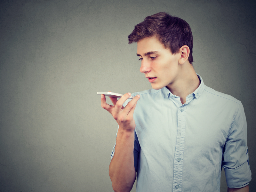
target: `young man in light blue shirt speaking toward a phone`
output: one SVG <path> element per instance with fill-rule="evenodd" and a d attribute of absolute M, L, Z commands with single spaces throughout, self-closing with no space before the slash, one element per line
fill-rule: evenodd
<path fill-rule="evenodd" d="M 133 42 L 153 89 L 110 98 L 113 106 L 101 95 L 118 123 L 109 165 L 114 191 L 130 191 L 137 173 L 137 192 L 217 192 L 222 167 L 228 191 L 249 191 L 243 106 L 196 74 L 188 23 L 164 12 L 148 16 L 129 35 Z"/>

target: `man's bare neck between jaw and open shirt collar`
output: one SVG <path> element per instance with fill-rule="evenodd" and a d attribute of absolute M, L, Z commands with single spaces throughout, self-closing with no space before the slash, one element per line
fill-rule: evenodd
<path fill-rule="evenodd" d="M 200 85 L 200 80 L 196 75 L 193 66 L 188 62 L 180 67 L 180 72 L 173 83 L 168 84 L 166 87 L 172 94 L 180 97 L 182 104 L 186 103 L 186 97 L 194 92 Z"/>

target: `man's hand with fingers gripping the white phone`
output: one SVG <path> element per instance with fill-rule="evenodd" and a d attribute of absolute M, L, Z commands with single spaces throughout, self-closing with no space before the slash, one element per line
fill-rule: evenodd
<path fill-rule="evenodd" d="M 136 95 L 126 107 L 123 107 L 124 102 L 131 96 L 131 93 L 124 94 L 119 100 L 114 97 L 109 97 L 113 105 L 108 105 L 105 95 L 100 96 L 101 107 L 106 109 L 116 120 L 119 129 L 125 131 L 134 131 L 135 121 L 133 119 L 133 112 L 136 107 L 140 95 Z"/>

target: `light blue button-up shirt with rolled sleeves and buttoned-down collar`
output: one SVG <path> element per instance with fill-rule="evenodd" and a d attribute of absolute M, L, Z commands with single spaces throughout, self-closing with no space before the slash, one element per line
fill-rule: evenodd
<path fill-rule="evenodd" d="M 243 105 L 198 77 L 183 105 L 166 87 L 132 94 L 140 95 L 133 115 L 137 192 L 217 192 L 222 167 L 229 188 L 249 184 Z"/>

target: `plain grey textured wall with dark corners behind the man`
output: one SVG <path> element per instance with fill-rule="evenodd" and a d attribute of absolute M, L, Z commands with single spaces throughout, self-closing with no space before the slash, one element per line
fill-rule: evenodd
<path fill-rule="evenodd" d="M 255 1 L 1 1 L 0 191 L 112 191 L 117 124 L 96 92 L 151 88 L 127 36 L 160 11 L 190 24 L 204 83 L 242 101 L 256 191 L 255 8 Z"/>

